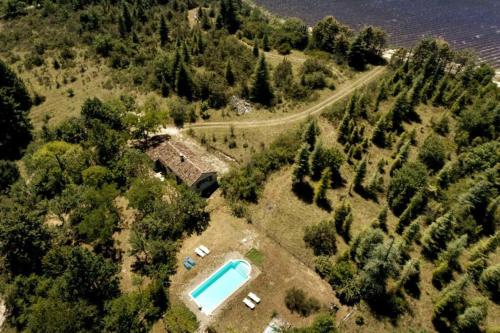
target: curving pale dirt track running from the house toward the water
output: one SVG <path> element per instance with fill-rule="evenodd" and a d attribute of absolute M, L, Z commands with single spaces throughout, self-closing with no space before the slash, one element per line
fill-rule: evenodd
<path fill-rule="evenodd" d="M 318 102 L 317 104 L 300 111 L 298 113 L 268 120 L 250 120 L 250 121 L 223 121 L 223 122 L 207 122 L 198 124 L 185 125 L 184 129 L 196 128 L 252 128 L 252 127 L 271 127 L 280 126 L 290 122 L 304 120 L 307 117 L 321 113 L 325 108 L 329 107 L 335 102 L 349 96 L 353 91 L 363 87 L 364 85 L 372 82 L 385 71 L 384 67 L 375 67 L 357 77 L 351 82 L 346 82 L 338 87 L 338 89 L 328 98 Z"/>

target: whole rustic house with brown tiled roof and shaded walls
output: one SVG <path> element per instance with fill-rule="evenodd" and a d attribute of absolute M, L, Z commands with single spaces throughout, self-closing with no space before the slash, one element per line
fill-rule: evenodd
<path fill-rule="evenodd" d="M 185 144 L 167 140 L 147 151 L 155 168 L 200 193 L 217 186 L 217 172 Z"/>

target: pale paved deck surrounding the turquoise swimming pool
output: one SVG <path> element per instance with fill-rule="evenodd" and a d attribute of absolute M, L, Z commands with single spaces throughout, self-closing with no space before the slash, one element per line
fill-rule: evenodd
<path fill-rule="evenodd" d="M 212 254 L 209 254 L 208 256 L 211 256 L 211 255 Z M 205 257 L 203 259 L 197 258 L 197 261 L 199 262 L 199 261 L 206 260 L 206 259 L 208 259 L 208 257 Z M 209 263 L 207 263 L 207 265 L 204 266 L 204 268 L 200 272 L 198 272 L 198 274 L 189 283 L 187 283 L 184 286 L 184 288 L 182 289 L 182 293 L 181 293 L 181 299 L 184 301 L 186 306 L 196 315 L 198 321 L 200 322 L 200 329 L 206 327 L 215 317 L 217 317 L 217 315 L 223 311 L 224 307 L 227 305 L 227 303 L 231 299 L 240 297 L 243 300 L 244 296 L 246 296 L 246 295 L 243 295 L 242 291 L 245 289 L 245 287 L 248 287 L 248 285 L 252 282 L 252 280 L 254 280 L 261 273 L 260 269 L 257 266 L 252 265 L 248 261 L 248 259 L 245 258 L 245 256 L 243 254 L 241 254 L 240 252 L 237 252 L 237 251 L 225 253 L 223 255 L 218 255 L 218 256 L 214 255 L 211 259 L 212 260 Z M 234 293 L 232 293 L 227 299 L 225 299 L 224 302 L 221 305 L 219 305 L 212 312 L 212 314 L 207 315 L 198 309 L 198 306 L 194 302 L 190 293 L 200 283 L 205 281 L 217 269 L 219 269 L 222 265 L 224 265 L 225 263 L 227 263 L 230 260 L 245 260 L 245 261 L 247 261 L 252 266 L 252 270 L 250 272 L 250 278 L 241 287 L 239 287 L 236 291 L 234 291 Z M 195 268 L 193 268 L 193 269 L 196 269 L 197 267 L 198 266 L 195 266 Z"/>

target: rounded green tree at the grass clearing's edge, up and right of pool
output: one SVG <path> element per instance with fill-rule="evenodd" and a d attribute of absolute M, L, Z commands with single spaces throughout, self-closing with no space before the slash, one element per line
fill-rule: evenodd
<path fill-rule="evenodd" d="M 316 256 L 331 256 L 337 252 L 335 226 L 328 221 L 307 226 L 304 231 L 304 242 L 314 251 Z"/>

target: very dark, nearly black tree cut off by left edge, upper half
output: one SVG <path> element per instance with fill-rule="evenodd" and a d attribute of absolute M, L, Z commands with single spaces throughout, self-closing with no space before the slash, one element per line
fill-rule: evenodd
<path fill-rule="evenodd" d="M 0 60 L 0 156 L 17 159 L 31 141 L 28 112 L 32 102 L 26 86 Z"/>

